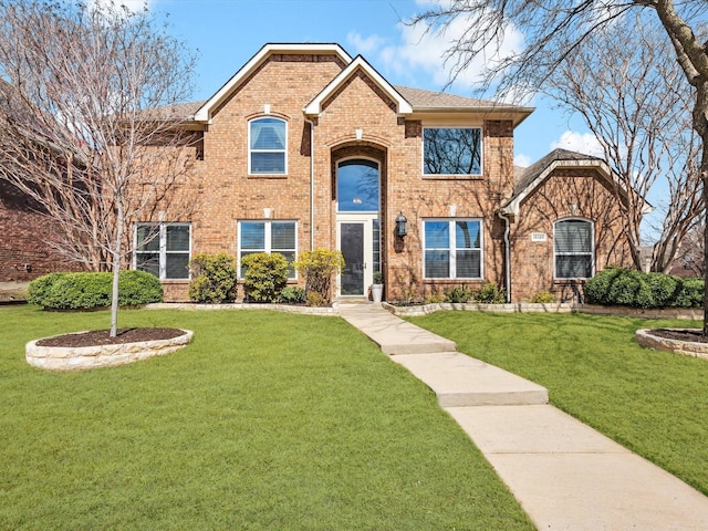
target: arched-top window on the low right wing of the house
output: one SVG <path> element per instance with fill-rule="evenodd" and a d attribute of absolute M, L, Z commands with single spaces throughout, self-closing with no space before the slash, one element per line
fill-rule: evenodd
<path fill-rule="evenodd" d="M 553 226 L 554 277 L 590 279 L 594 266 L 594 229 L 586 219 L 562 219 Z"/>

